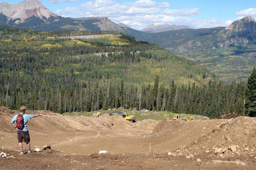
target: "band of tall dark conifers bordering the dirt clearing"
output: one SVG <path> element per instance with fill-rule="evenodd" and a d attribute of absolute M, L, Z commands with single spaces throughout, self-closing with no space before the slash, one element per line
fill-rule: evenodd
<path fill-rule="evenodd" d="M 232 112 L 242 115 L 246 99 L 246 115 L 255 116 L 256 69 L 248 83 L 230 85 L 210 80 L 203 86 L 177 86 L 174 81 L 164 86 L 156 77 L 153 85 L 142 86 L 92 79 L 84 85 L 76 84 L 75 88 L 47 88 L 44 84 L 19 88 L 15 84 L 3 86 L 3 77 L 0 80 L 0 105 L 11 109 L 26 105 L 29 109 L 64 113 L 124 107 L 216 118 Z"/>

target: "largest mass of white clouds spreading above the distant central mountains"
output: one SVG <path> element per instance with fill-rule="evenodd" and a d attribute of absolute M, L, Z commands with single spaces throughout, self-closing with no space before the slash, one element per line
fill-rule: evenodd
<path fill-rule="evenodd" d="M 66 7 L 55 13 L 64 16 L 74 16 L 73 14 L 75 14 L 77 17 L 108 17 L 115 23 L 122 22 L 138 30 L 152 23 L 188 25 L 192 28 L 227 25 L 226 20 L 191 18 L 191 15 L 200 13 L 197 8 L 170 9 L 169 7 L 170 4 L 167 2 L 154 0 L 122 3 L 117 3 L 115 0 L 90 0 L 82 4 L 81 7 Z"/>

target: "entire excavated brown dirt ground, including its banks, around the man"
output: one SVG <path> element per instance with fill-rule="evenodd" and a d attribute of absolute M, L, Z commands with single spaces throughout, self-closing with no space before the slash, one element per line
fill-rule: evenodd
<path fill-rule="evenodd" d="M 3 169 L 255 169 L 256 118 L 128 122 L 121 116 L 62 116 L 29 120 L 31 149 L 20 155 L 13 113 L 0 113 Z M 7 110 L 7 111 L 6 111 Z M 151 144 L 150 152 L 149 145 Z M 24 151 L 27 151 L 24 147 Z M 105 150 L 108 153 L 98 154 Z M 169 152 L 169 154 L 168 154 Z M 19 167 L 17 167 L 19 166 Z"/>

